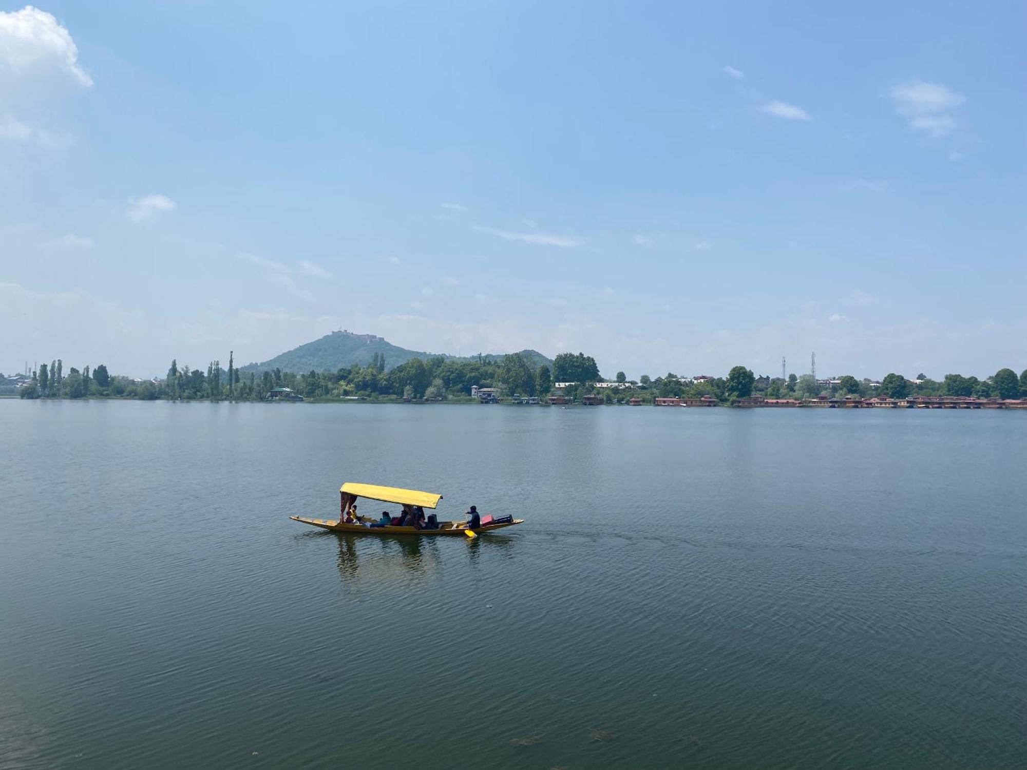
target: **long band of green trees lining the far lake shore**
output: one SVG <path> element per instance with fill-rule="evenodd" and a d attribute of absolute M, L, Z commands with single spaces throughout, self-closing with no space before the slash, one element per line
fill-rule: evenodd
<path fill-rule="evenodd" d="M 745 367 L 734 367 L 727 377 L 693 381 L 669 372 L 651 379 L 643 375 L 638 381 L 627 380 L 618 372 L 615 380 L 621 387 L 603 388 L 596 359 L 583 353 L 561 353 L 549 367 L 533 367 L 519 353 L 498 360 L 448 360 L 442 357 L 413 358 L 386 372 L 385 361 L 376 355 L 366 367 L 354 364 L 335 372 L 296 374 L 281 370 L 262 373 L 240 373 L 234 365 L 234 353 L 229 353 L 228 369 L 218 360 L 206 370 L 180 367 L 173 360 L 163 380 L 132 380 L 110 375 L 99 364 L 81 371 L 71 368 L 64 374 L 61 359 L 42 364 L 33 372 L 31 382 L 18 389 L 23 398 L 84 398 L 88 396 L 169 400 L 232 399 L 262 400 L 275 388 L 289 388 L 305 398 L 365 397 L 371 399 L 428 399 L 469 397 L 472 385 L 491 387 L 500 398 L 547 396 L 556 383 L 573 383 L 562 388 L 572 397 L 601 395 L 610 403 L 639 398 L 651 403 L 656 397 L 700 398 L 711 396 L 723 403 L 736 398 L 762 395 L 767 398 L 815 398 L 821 395 L 875 395 L 903 398 L 910 395 L 974 396 L 978 398 L 1027 398 L 1027 370 L 1017 376 L 1011 369 L 1001 369 L 992 377 L 980 380 L 949 374 L 933 380 L 923 374 L 915 380 L 888 374 L 880 383 L 857 380 L 846 375 L 838 382 L 825 385 L 812 375 L 757 377 Z"/>

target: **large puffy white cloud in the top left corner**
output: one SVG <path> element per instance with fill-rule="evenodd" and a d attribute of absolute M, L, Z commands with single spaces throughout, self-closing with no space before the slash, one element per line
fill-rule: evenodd
<path fill-rule="evenodd" d="M 52 14 L 27 5 L 0 12 L 0 78 L 29 79 L 61 74 L 80 86 L 92 85 L 78 65 L 78 47 Z"/>

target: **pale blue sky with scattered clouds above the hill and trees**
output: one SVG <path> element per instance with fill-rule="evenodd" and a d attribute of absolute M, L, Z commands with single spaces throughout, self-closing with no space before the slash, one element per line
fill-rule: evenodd
<path fill-rule="evenodd" d="M 1027 368 L 1027 6 L 0 0 L 0 371 Z"/>

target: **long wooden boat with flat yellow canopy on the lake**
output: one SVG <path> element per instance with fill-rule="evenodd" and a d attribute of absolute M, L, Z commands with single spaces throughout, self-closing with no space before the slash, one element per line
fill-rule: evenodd
<path fill-rule="evenodd" d="M 385 503 L 396 503 L 398 505 L 434 508 L 442 495 L 433 492 L 420 492 L 418 490 L 403 490 L 398 487 L 379 487 L 373 484 L 354 484 L 346 482 L 339 488 L 339 518 L 306 518 L 304 516 L 290 516 L 294 522 L 309 524 L 311 527 L 319 527 L 322 530 L 333 532 L 353 532 L 364 535 L 454 535 L 457 537 L 473 537 L 483 532 L 501 530 L 504 527 L 512 527 L 516 524 L 524 524 L 523 518 L 511 518 L 503 516 L 498 522 L 490 522 L 492 516 L 486 515 L 482 518 L 482 526 L 473 529 L 468 528 L 463 522 L 439 522 L 438 528 L 417 529 L 416 527 L 371 527 L 377 525 L 378 519 L 371 516 L 357 516 L 358 524 L 346 524 L 343 517 L 348 512 L 350 506 L 354 505 L 358 498 L 366 500 L 379 500 Z"/>

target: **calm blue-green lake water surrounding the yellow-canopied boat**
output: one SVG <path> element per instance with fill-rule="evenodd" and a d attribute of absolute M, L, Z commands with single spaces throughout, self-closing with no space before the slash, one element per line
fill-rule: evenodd
<path fill-rule="evenodd" d="M 0 400 L 0 436 L 3 768 L 1027 763 L 1027 414 Z M 527 524 L 289 521 L 343 480 Z"/>

